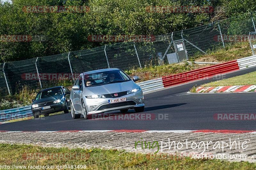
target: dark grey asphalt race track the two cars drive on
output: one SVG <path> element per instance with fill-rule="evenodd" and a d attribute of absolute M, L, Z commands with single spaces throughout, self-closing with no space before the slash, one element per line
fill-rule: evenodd
<path fill-rule="evenodd" d="M 256 71 L 256 67 L 226 74 L 217 79 L 230 78 Z M 256 93 L 213 93 L 188 94 L 193 85 L 200 85 L 216 78 L 166 88 L 145 94 L 145 112 L 158 118 L 167 114 L 167 120 L 73 120 L 71 114 L 60 114 L 0 125 L 0 130 L 11 131 L 58 131 L 58 130 L 199 130 L 229 129 L 256 130 L 255 120 L 225 121 L 215 120 L 216 113 L 256 113 Z M 120 113 L 118 111 L 111 113 Z M 130 110 L 129 113 L 134 113 Z M 128 113 L 128 114 L 129 114 Z"/>

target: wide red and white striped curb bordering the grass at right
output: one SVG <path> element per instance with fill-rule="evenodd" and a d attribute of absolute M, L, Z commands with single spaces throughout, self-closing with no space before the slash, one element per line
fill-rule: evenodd
<path fill-rule="evenodd" d="M 197 93 L 220 93 L 220 92 L 256 92 L 256 85 L 233 85 L 217 87 L 197 87 Z"/>

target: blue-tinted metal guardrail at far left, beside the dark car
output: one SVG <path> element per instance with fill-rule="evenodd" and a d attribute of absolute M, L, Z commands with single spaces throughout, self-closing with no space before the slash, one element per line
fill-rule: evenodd
<path fill-rule="evenodd" d="M 0 111 L 0 122 L 32 116 L 31 106 Z"/>

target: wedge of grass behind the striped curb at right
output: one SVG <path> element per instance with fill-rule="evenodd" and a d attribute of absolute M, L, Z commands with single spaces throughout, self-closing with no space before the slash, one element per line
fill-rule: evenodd
<path fill-rule="evenodd" d="M 241 76 L 213 81 L 201 86 L 225 86 L 225 85 L 256 85 L 256 71 Z"/>

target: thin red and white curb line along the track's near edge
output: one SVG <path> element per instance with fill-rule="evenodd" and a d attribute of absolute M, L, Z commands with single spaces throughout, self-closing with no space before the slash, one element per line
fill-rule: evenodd
<path fill-rule="evenodd" d="M 60 130 L 60 131 L 9 131 L 9 130 L 0 130 L 0 132 L 9 132 L 9 133 L 16 133 L 16 132 L 39 132 L 39 133 L 63 133 L 63 132 L 126 132 L 126 133 L 252 133 L 256 134 L 255 130 L 128 130 L 128 129 L 120 129 L 120 130 Z"/>

